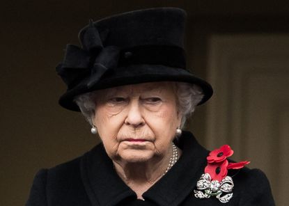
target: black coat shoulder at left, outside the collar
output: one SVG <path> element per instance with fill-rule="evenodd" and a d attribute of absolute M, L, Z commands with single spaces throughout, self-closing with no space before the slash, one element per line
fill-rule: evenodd
<path fill-rule="evenodd" d="M 89 205 L 81 179 L 83 176 L 81 162 L 95 150 L 97 150 L 97 146 L 80 157 L 63 164 L 40 169 L 34 177 L 26 206 L 46 205 L 47 203 L 49 205 L 61 205 L 59 203 L 62 205 L 77 205 L 78 203 L 78 205 Z"/>

